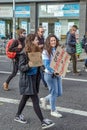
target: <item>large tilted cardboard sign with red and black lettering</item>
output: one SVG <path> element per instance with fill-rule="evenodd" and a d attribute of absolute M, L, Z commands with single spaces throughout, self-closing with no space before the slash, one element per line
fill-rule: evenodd
<path fill-rule="evenodd" d="M 52 62 L 51 68 L 59 73 L 60 76 L 65 76 L 70 62 L 70 55 L 61 47 L 57 47 Z"/>

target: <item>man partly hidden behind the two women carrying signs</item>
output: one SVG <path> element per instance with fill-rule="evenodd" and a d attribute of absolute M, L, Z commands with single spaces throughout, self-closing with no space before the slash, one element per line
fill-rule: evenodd
<path fill-rule="evenodd" d="M 44 47 L 44 28 L 42 26 L 38 27 L 37 29 L 37 36 L 38 36 L 38 40 L 39 40 L 39 47 L 41 48 L 41 50 L 43 50 L 43 47 Z M 40 73 L 39 73 L 40 71 Z M 41 66 L 39 69 L 38 69 L 38 82 L 40 84 L 40 80 L 42 79 L 43 81 L 43 85 L 48 88 L 47 86 L 47 83 L 45 82 L 44 80 L 44 66 Z"/>

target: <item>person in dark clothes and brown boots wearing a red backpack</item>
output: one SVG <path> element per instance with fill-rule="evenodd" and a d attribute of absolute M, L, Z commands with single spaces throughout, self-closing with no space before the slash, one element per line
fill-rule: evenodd
<path fill-rule="evenodd" d="M 10 52 L 16 52 L 16 57 L 12 59 L 12 64 L 13 64 L 13 70 L 9 77 L 6 79 L 6 81 L 3 83 L 3 89 L 5 91 L 9 90 L 9 83 L 13 79 L 13 77 L 16 76 L 18 72 L 18 61 L 19 61 L 19 55 L 22 49 L 25 46 L 25 37 L 26 37 L 26 30 L 25 29 L 18 29 L 17 30 L 17 39 L 14 39 L 12 45 L 9 47 Z M 19 44 L 20 43 L 20 44 Z"/>

